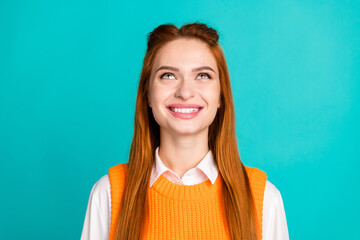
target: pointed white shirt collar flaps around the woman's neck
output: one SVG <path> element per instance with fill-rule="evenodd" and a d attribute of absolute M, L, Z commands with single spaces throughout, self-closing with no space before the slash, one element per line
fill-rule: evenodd
<path fill-rule="evenodd" d="M 200 163 L 195 167 L 200 169 L 211 181 L 212 184 L 214 184 L 217 175 L 218 175 L 218 169 L 216 167 L 214 156 L 211 152 L 211 150 L 205 155 L 205 157 L 200 161 Z M 193 169 L 193 168 L 192 168 Z M 191 169 L 188 170 L 188 172 Z M 153 183 L 166 171 L 170 171 L 174 173 L 176 176 L 177 174 L 173 172 L 171 169 L 167 168 L 164 163 L 161 161 L 159 157 L 159 147 L 155 150 L 155 161 L 152 166 L 151 176 L 150 176 L 150 187 L 153 185 Z"/>

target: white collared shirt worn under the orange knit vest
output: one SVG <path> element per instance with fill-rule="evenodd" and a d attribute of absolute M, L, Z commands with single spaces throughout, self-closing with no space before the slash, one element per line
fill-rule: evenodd
<path fill-rule="evenodd" d="M 214 184 L 218 169 L 213 155 L 209 151 L 201 162 L 187 171 L 182 178 L 167 168 L 155 151 L 155 162 L 150 176 L 150 187 L 163 175 L 170 181 L 193 185 L 209 179 Z M 106 174 L 92 187 L 86 209 L 81 240 L 105 240 L 109 238 L 111 219 L 110 180 Z M 266 180 L 263 202 L 263 240 L 288 240 L 288 228 L 284 205 L 279 190 Z"/>

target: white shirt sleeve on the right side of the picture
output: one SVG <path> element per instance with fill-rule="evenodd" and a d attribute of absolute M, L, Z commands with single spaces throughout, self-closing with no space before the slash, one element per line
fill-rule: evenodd
<path fill-rule="evenodd" d="M 281 194 L 269 181 L 266 181 L 264 193 L 263 240 L 289 240 Z"/>

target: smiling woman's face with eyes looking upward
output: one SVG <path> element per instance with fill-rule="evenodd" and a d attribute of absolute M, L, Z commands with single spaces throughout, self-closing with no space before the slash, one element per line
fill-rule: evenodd
<path fill-rule="evenodd" d="M 164 45 L 154 59 L 148 98 L 160 131 L 207 132 L 220 106 L 218 67 L 207 44 L 177 39 Z"/>

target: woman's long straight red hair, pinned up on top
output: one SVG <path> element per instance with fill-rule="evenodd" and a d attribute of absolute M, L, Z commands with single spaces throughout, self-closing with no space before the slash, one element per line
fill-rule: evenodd
<path fill-rule="evenodd" d="M 136 98 L 134 135 L 128 161 L 115 239 L 141 239 L 147 218 L 147 191 L 155 149 L 160 143 L 160 129 L 148 106 L 148 91 L 154 58 L 164 44 L 179 38 L 199 39 L 213 53 L 220 77 L 220 108 L 209 127 L 209 149 L 224 181 L 223 206 L 231 239 L 256 240 L 255 209 L 249 179 L 241 162 L 235 133 L 234 103 L 229 72 L 219 36 L 202 23 L 183 25 L 180 29 L 164 24 L 148 34 Z"/>

